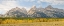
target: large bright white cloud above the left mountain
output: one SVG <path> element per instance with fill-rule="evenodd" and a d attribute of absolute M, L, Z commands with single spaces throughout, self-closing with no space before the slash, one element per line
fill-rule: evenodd
<path fill-rule="evenodd" d="M 6 13 L 8 10 L 15 8 L 15 7 L 22 8 L 22 6 L 19 6 L 17 4 L 17 1 L 2 1 L 0 3 L 0 13 L 1 11 L 4 11 L 4 13 Z"/>

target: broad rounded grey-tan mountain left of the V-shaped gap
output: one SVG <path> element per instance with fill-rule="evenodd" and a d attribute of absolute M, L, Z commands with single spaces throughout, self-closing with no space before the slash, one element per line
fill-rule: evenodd
<path fill-rule="evenodd" d="M 25 8 L 13 8 L 11 10 L 9 10 L 5 16 L 9 16 L 9 17 L 27 17 L 27 11 L 25 10 Z"/>

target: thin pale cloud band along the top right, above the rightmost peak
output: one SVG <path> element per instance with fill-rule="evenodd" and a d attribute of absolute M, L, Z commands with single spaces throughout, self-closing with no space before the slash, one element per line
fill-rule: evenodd
<path fill-rule="evenodd" d="M 38 3 L 46 2 L 51 5 L 64 5 L 64 0 L 38 0 Z"/>

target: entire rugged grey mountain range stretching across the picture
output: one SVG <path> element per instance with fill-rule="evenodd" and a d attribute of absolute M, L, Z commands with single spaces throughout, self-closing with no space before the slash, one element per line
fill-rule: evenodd
<path fill-rule="evenodd" d="M 42 8 L 41 6 L 37 8 L 32 6 L 27 12 L 25 8 L 12 8 L 7 11 L 4 17 L 64 17 L 64 10 L 53 8 L 51 5 Z"/>

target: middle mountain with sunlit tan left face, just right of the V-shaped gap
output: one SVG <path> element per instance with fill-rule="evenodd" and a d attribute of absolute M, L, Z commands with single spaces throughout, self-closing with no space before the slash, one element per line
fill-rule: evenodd
<path fill-rule="evenodd" d="M 42 10 L 43 8 L 36 8 L 36 6 L 33 6 L 28 12 L 28 17 L 47 17 Z"/>

